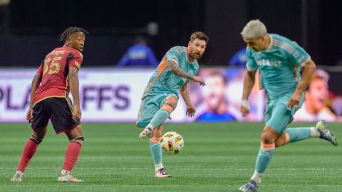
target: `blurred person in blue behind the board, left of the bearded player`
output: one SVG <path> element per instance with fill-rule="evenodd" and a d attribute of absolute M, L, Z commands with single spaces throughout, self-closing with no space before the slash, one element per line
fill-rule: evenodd
<path fill-rule="evenodd" d="M 123 66 L 151 66 L 156 67 L 158 64 L 152 49 L 147 46 L 145 38 L 138 36 L 135 44 L 128 48 L 123 58 L 116 64 L 118 67 Z"/>

